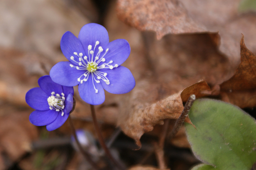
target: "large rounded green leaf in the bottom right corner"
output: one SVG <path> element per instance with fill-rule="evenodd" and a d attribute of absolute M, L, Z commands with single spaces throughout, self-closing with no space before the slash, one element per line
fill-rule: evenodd
<path fill-rule="evenodd" d="M 195 156 L 220 170 L 250 169 L 256 162 L 255 119 L 240 108 L 217 100 L 196 100 L 186 124 Z M 195 169 L 212 169 L 199 166 Z"/>

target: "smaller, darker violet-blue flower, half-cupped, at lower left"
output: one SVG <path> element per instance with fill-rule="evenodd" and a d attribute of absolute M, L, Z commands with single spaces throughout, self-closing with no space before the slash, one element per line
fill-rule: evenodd
<path fill-rule="evenodd" d="M 38 84 L 26 93 L 27 104 L 35 109 L 29 120 L 33 125 L 55 130 L 65 123 L 73 108 L 74 89 L 53 82 L 50 76 L 40 77 Z"/>

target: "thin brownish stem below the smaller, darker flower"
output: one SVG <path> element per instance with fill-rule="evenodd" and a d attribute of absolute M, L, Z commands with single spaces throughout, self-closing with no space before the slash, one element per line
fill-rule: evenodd
<path fill-rule="evenodd" d="M 72 119 L 70 118 L 70 116 L 68 117 L 68 121 L 71 127 L 71 131 L 73 133 L 73 136 L 76 140 L 77 146 L 80 150 L 80 152 L 83 154 L 84 158 L 88 161 L 88 163 L 92 166 L 93 169 L 99 170 L 100 168 L 95 164 L 95 162 L 91 159 L 91 156 L 89 155 L 89 153 L 87 153 L 81 146 L 80 142 L 77 139 L 77 134 L 76 134 L 76 130 L 74 127 L 74 124 L 72 122 Z"/>

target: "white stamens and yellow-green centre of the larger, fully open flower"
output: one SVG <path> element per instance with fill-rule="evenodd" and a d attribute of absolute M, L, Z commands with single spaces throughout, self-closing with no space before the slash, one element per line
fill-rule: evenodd
<path fill-rule="evenodd" d="M 74 56 L 71 56 L 70 59 L 77 63 L 77 66 L 74 66 L 70 64 L 70 67 L 75 67 L 78 70 L 84 70 L 84 74 L 82 74 L 77 81 L 80 83 L 83 83 L 84 81 L 87 81 L 89 78 L 89 74 L 92 75 L 92 83 L 95 90 L 95 93 L 98 93 L 98 89 L 95 88 L 94 81 L 96 83 L 100 83 L 100 80 L 103 80 L 106 84 L 110 84 L 109 79 L 106 77 L 107 73 L 99 71 L 102 68 L 109 68 L 113 69 L 115 67 L 118 67 L 118 64 L 110 65 L 113 63 L 111 60 L 108 63 L 103 63 L 100 65 L 101 62 L 105 62 L 106 59 L 104 56 L 109 51 L 109 48 L 105 50 L 105 53 L 100 57 L 101 52 L 103 52 L 103 48 L 101 46 L 98 47 L 98 52 L 95 53 L 95 48 L 97 45 L 99 45 L 99 41 L 96 41 L 94 48 L 92 50 L 92 45 L 88 45 L 88 54 L 89 56 L 83 55 L 83 53 L 77 53 L 74 52 Z M 96 55 L 95 55 L 96 54 Z M 94 56 L 95 55 L 95 56 Z M 75 60 L 76 59 L 76 60 Z M 99 65 L 99 66 L 98 66 Z"/>

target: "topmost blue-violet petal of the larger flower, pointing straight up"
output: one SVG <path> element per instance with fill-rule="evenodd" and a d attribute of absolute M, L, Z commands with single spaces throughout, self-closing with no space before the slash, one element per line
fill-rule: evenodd
<path fill-rule="evenodd" d="M 102 25 L 89 23 L 81 28 L 78 39 L 82 42 L 84 50 L 88 50 L 88 45 L 92 45 L 93 49 L 96 41 L 100 42 L 97 47 L 107 45 L 109 43 L 109 34 Z"/>

